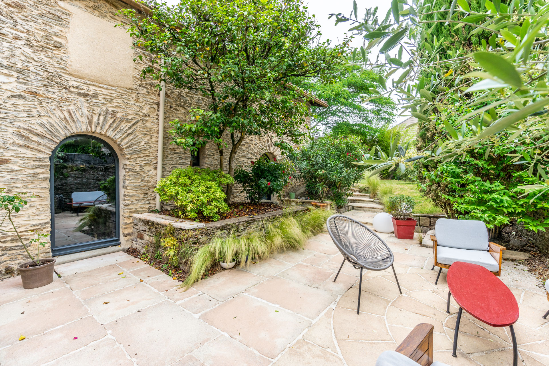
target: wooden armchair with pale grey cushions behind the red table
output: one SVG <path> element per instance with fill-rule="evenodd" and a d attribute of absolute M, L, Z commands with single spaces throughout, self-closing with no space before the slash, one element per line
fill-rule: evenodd
<path fill-rule="evenodd" d="M 494 273 L 501 275 L 501 258 L 505 246 L 489 241 L 488 229 L 482 221 L 456 220 L 440 218 L 435 224 L 433 240 L 433 259 L 439 267 L 435 285 L 439 281 L 442 268 L 450 268 L 453 262 L 478 264 Z"/>

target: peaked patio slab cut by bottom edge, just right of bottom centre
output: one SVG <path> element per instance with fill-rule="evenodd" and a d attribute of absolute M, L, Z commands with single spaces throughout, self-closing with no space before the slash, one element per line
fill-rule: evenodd
<path fill-rule="evenodd" d="M 273 366 L 343 366 L 341 358 L 332 352 L 299 340 Z"/>

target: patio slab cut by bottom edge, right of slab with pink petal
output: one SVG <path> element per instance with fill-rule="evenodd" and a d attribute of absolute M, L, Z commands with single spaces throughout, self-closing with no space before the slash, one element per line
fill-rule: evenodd
<path fill-rule="evenodd" d="M 99 342 L 88 345 L 74 353 L 56 359 L 48 366 L 97 366 L 116 365 L 133 366 L 133 362 L 126 356 L 116 341 L 105 338 Z"/>

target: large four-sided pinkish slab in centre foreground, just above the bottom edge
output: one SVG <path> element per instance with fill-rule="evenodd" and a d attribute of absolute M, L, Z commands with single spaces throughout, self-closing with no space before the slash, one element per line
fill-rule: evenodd
<path fill-rule="evenodd" d="M 200 318 L 270 358 L 277 357 L 311 324 L 296 314 L 247 295 L 238 295 Z"/>

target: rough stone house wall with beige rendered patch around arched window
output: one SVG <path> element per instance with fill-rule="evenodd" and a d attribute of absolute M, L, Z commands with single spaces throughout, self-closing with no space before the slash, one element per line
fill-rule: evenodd
<path fill-rule="evenodd" d="M 122 245 L 130 244 L 133 213 L 155 207 L 159 91 L 140 76 L 139 60 L 128 63 L 140 50 L 128 50 L 130 36 L 114 27 L 122 21 L 117 10 L 127 7 L 117 0 L 2 2 L 0 187 L 37 195 L 14 217 L 27 241 L 32 230 L 51 231 L 49 158 L 74 134 L 102 138 L 119 157 Z M 168 122 L 206 106 L 201 95 L 166 86 L 163 176 L 191 160 L 188 151 L 170 144 Z M 249 137 L 236 164 L 266 152 L 281 157 L 269 137 Z M 203 156 L 204 167 L 219 167 L 214 144 Z M 234 191 L 234 199 L 243 200 L 240 189 Z M 41 252 L 51 255 L 48 247 Z M 0 278 L 16 274 L 25 260 L 16 237 L 0 234 Z"/>

